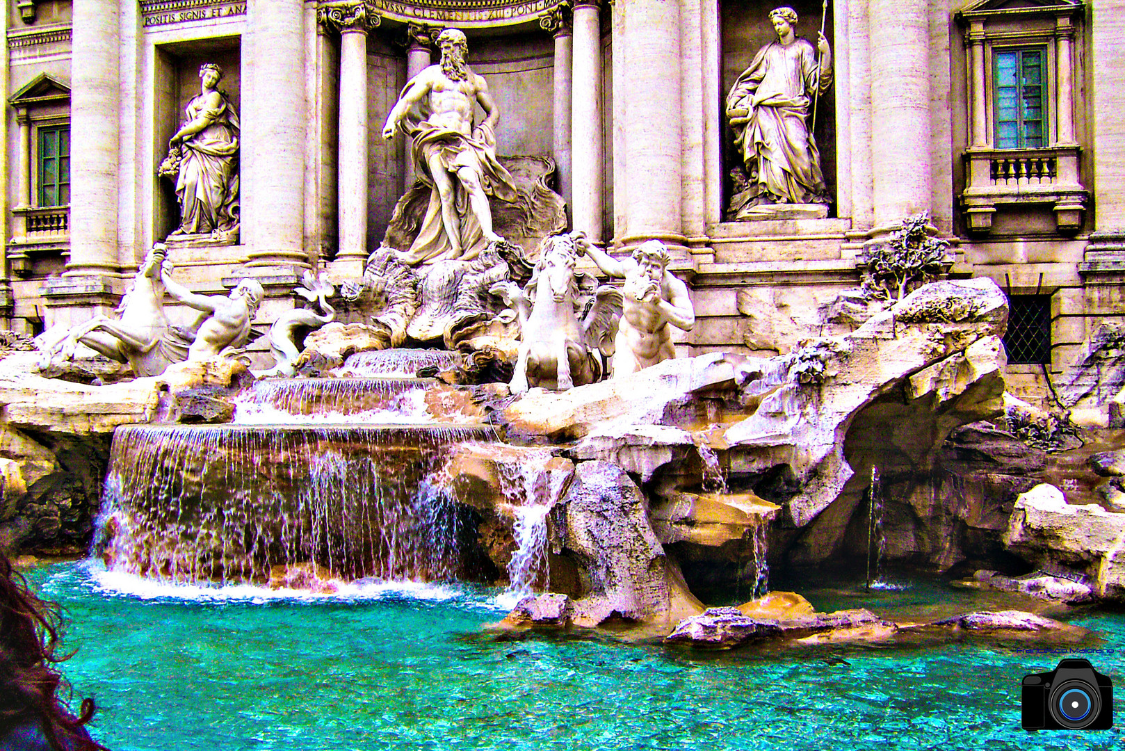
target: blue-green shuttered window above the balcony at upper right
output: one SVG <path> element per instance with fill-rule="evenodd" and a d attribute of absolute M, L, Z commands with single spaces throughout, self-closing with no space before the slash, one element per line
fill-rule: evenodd
<path fill-rule="evenodd" d="M 1046 48 L 993 50 L 996 64 L 996 147 L 1046 145 Z"/>

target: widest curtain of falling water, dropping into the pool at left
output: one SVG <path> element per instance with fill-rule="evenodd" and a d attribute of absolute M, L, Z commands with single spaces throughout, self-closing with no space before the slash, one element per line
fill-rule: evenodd
<path fill-rule="evenodd" d="M 128 426 L 110 450 L 96 551 L 177 582 L 269 580 L 312 562 L 344 579 L 460 578 L 467 533 L 429 481 L 461 426 Z"/>

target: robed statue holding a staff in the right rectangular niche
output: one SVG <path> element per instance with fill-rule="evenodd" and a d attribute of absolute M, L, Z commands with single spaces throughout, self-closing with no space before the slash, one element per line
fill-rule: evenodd
<path fill-rule="evenodd" d="M 727 117 L 746 169 L 731 199 L 732 218 L 825 216 L 829 198 L 812 136 L 810 110 L 832 82 L 832 55 L 820 33 L 817 46 L 795 35 L 796 12 L 776 8 L 770 21 L 777 41 L 762 47 L 727 95 Z M 788 205 L 788 206 L 786 206 Z"/>

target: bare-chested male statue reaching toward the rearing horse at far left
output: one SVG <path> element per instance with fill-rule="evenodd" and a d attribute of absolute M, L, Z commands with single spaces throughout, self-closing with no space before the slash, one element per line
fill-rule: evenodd
<path fill-rule="evenodd" d="M 262 285 L 243 279 L 226 297 L 198 295 L 162 274 L 168 294 L 188 307 L 199 311 L 195 324 L 183 332 L 191 337 L 188 361 L 196 363 L 212 357 L 233 354 L 250 340 L 250 323 L 266 294 Z"/>

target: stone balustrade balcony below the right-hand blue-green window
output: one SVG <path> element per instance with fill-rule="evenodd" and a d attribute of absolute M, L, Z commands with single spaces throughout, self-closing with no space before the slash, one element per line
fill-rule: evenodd
<path fill-rule="evenodd" d="M 970 232 L 991 231 L 997 206 L 1004 204 L 1050 204 L 1059 232 L 1078 232 L 1090 197 L 1079 179 L 1080 153 L 1077 144 L 966 150 L 961 206 Z"/>

